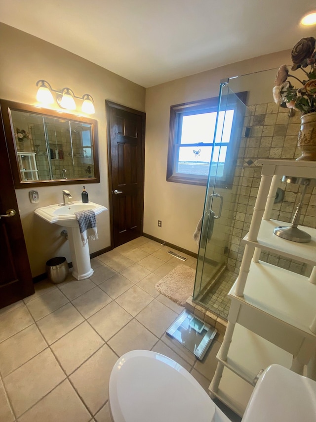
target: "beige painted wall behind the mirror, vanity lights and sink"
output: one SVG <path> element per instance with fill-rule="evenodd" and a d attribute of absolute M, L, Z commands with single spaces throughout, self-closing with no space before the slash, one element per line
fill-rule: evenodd
<path fill-rule="evenodd" d="M 98 121 L 100 178 L 99 184 L 88 184 L 89 200 L 108 208 L 108 169 L 105 100 L 145 111 L 145 88 L 103 69 L 62 48 L 46 43 L 0 23 L 0 98 L 37 105 L 36 82 L 47 80 L 54 89 L 71 88 L 76 95 L 89 93 L 94 98 Z M 106 40 L 100 40 L 106 43 Z M 60 108 L 56 106 L 58 110 Z M 31 204 L 31 188 L 16 190 L 32 275 L 45 271 L 45 262 L 53 256 L 66 256 L 70 261 L 68 242 L 60 236 L 57 225 L 49 225 L 34 215 L 37 207 L 62 202 L 62 189 L 68 189 L 74 200 L 81 199 L 82 184 L 38 188 L 40 203 Z M 90 252 L 110 246 L 109 212 L 97 216 L 99 240 L 90 242 Z"/>

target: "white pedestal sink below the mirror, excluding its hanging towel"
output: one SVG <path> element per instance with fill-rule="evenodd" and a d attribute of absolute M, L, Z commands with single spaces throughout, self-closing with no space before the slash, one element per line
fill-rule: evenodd
<path fill-rule="evenodd" d="M 94 202 L 81 201 L 69 202 L 69 204 L 55 204 L 37 208 L 34 212 L 50 224 L 58 224 L 67 227 L 71 259 L 73 262 L 73 276 L 77 280 L 84 280 L 92 276 L 93 270 L 90 263 L 89 244 L 82 245 L 78 221 L 75 212 L 92 209 L 95 214 L 107 211 L 103 205 Z"/>

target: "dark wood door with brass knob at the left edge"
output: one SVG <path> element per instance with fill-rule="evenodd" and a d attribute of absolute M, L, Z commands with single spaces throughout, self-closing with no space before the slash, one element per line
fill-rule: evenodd
<path fill-rule="evenodd" d="M 0 218 L 0 308 L 34 293 L 18 204 L 15 196 L 3 126 L 0 125 L 0 215 L 15 210 L 12 217 Z"/>

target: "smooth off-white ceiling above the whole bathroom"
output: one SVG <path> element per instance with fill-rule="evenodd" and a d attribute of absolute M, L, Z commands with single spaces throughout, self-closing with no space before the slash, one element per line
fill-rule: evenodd
<path fill-rule="evenodd" d="M 0 0 L 0 21 L 143 87 L 291 49 L 314 0 Z M 3 41 L 2 41 L 3 42 Z"/>

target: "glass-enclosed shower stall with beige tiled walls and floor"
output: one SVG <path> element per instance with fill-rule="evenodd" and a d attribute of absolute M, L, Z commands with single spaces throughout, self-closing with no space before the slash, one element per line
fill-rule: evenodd
<path fill-rule="evenodd" d="M 261 166 L 256 161 L 300 155 L 296 147 L 300 115 L 274 102 L 276 72 L 270 69 L 220 83 L 193 300 L 224 319 L 260 184 Z M 300 223 L 310 227 L 316 225 L 314 189 L 308 188 Z M 299 202 L 299 187 L 280 182 L 278 192 L 272 218 L 290 222 Z M 273 253 L 262 253 L 261 259 L 299 274 L 310 270 Z"/>

